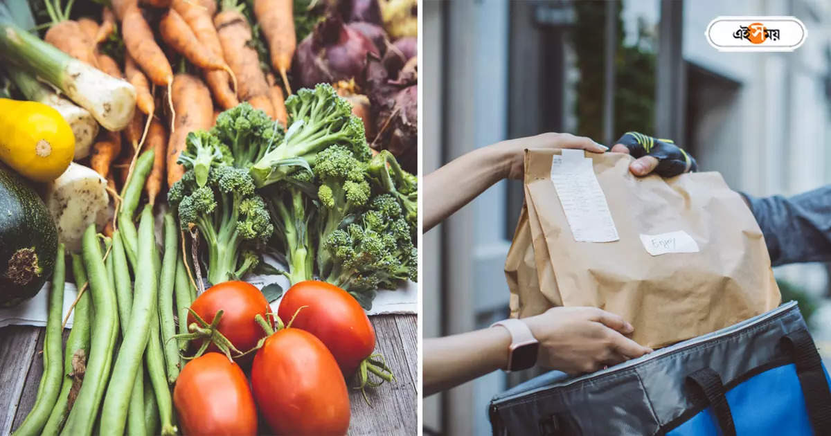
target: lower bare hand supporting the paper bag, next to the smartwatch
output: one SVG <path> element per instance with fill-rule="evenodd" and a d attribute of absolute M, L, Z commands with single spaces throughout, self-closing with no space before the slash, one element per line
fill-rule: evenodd
<path fill-rule="evenodd" d="M 539 341 L 537 364 L 582 374 L 634 359 L 652 349 L 627 338 L 632 325 L 596 307 L 553 307 L 524 318 Z"/>

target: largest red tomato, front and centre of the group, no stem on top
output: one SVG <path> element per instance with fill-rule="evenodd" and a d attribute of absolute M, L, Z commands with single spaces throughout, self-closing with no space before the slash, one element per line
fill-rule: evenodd
<path fill-rule="evenodd" d="M 335 358 L 307 331 L 269 336 L 251 366 L 260 413 L 275 434 L 341 436 L 349 429 L 349 394 Z"/>

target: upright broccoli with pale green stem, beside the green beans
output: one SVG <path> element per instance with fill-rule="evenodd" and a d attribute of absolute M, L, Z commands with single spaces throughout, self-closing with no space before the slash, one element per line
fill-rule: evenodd
<path fill-rule="evenodd" d="M 209 167 L 203 186 L 194 169 L 170 187 L 168 202 L 184 230 L 192 226 L 208 245 L 208 280 L 220 283 L 242 277 L 256 266 L 256 248 L 274 227 L 263 198 L 254 193 L 248 171 L 228 165 Z"/>

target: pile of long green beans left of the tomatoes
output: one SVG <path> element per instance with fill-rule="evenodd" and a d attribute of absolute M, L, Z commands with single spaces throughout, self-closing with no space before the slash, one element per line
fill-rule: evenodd
<path fill-rule="evenodd" d="M 153 151 L 135 161 L 121 193 L 118 228 L 111 238 L 86 229 L 81 254 L 71 254 L 76 286 L 87 289 L 61 347 L 65 253 L 58 247 L 48 299 L 43 376 L 32 411 L 15 435 L 176 434 L 170 389 L 183 364 L 176 340 L 186 332 L 187 307 L 196 292 L 179 252 L 179 229 L 170 213 L 163 249 L 155 240 L 152 205 L 141 190 Z M 174 306 L 175 296 L 175 306 Z M 186 345 L 181 345 L 182 347 Z M 63 353 L 61 353 L 63 352 Z"/>

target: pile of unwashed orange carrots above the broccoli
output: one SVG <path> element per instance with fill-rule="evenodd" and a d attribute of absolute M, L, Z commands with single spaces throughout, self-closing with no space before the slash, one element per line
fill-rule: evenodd
<path fill-rule="evenodd" d="M 60 9 L 60 0 L 47 2 Z M 240 101 L 286 124 L 287 71 L 296 46 L 293 0 L 255 0 L 248 15 L 268 41 L 273 73 L 263 71 L 250 43 L 254 23 L 240 12 L 246 6 L 244 0 L 112 0 L 100 19 L 71 20 L 67 8 L 52 20 L 47 42 L 135 87 L 132 122 L 120 132 L 101 130 L 92 147 L 89 165 L 112 194 L 130 179 L 136 156 L 152 149 L 145 193 L 155 204 L 165 184 L 184 174 L 176 161 L 188 133 L 210 129 L 216 113 Z M 122 52 L 105 52 L 102 43 L 114 36 L 123 40 Z"/>

